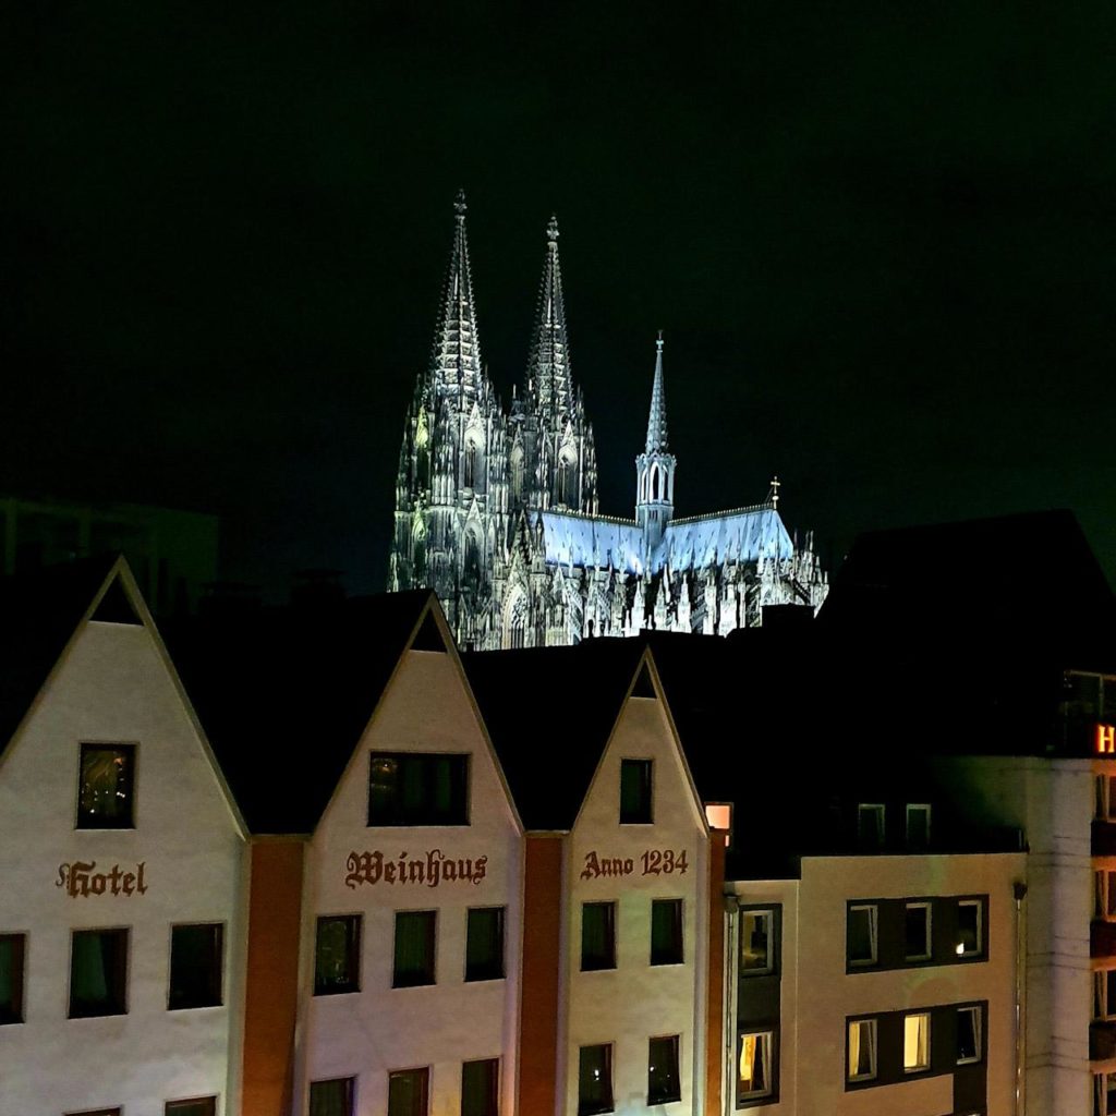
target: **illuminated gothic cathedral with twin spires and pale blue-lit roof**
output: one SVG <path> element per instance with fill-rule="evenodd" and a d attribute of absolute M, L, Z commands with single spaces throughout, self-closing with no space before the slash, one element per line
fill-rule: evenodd
<path fill-rule="evenodd" d="M 662 336 L 635 518 L 600 514 L 554 218 L 527 371 L 503 410 L 481 362 L 463 194 L 454 209 L 433 350 L 400 451 L 388 589 L 433 588 L 459 644 L 478 651 L 644 628 L 727 635 L 758 625 L 766 605 L 817 608 L 826 575 L 810 537 L 800 548 L 787 532 L 778 481 L 761 503 L 674 518 Z"/>

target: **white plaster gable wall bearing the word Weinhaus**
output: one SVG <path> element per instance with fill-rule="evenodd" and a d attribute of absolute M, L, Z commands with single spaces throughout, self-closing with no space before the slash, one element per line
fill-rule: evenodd
<path fill-rule="evenodd" d="M 529 741 L 525 740 L 525 747 Z M 423 828 L 367 826 L 372 751 L 468 753 L 470 825 Z M 350 852 L 385 856 L 488 857 L 479 884 L 394 884 L 349 888 Z M 357 1116 L 387 1112 L 387 1074 L 429 1066 L 431 1116 L 461 1108 L 461 1064 L 501 1059 L 503 1110 L 516 1089 L 522 839 L 478 714 L 450 654 L 407 652 L 338 786 L 310 846 L 302 934 L 304 1037 L 297 1095 L 312 1080 L 356 1077 Z M 466 911 L 504 906 L 507 977 L 464 982 Z M 437 911 L 436 983 L 392 988 L 396 911 Z M 360 991 L 315 997 L 314 943 L 319 915 L 363 915 Z"/>

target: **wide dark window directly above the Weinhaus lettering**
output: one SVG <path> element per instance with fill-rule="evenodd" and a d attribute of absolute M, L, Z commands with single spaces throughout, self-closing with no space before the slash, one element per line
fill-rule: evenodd
<path fill-rule="evenodd" d="M 373 752 L 369 826 L 468 826 L 469 757 Z"/>

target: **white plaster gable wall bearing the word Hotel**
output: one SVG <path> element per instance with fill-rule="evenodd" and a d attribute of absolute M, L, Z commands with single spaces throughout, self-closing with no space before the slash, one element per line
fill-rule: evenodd
<path fill-rule="evenodd" d="M 137 744 L 133 830 L 74 827 L 79 745 L 96 741 Z M 0 1027 L 0 1116 L 146 1116 L 209 1095 L 238 1110 L 243 847 L 150 632 L 85 625 L 0 763 L 0 931 L 28 935 L 26 1022 Z M 55 882 L 75 860 L 144 862 L 147 893 L 70 897 Z M 171 925 L 185 922 L 225 926 L 225 1007 L 166 1010 Z M 131 930 L 128 1012 L 67 1019 L 70 931 L 98 926 Z"/>

